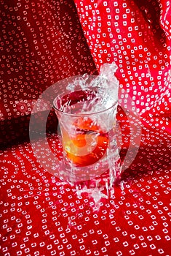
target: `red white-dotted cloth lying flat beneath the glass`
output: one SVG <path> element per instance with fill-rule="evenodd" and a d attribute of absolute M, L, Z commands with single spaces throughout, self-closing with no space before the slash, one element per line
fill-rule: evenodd
<path fill-rule="evenodd" d="M 55 135 L 49 143 L 57 152 Z M 100 209 L 44 171 L 29 143 L 1 152 L 1 255 L 170 255 L 170 147 L 167 132 L 143 129 Z"/>

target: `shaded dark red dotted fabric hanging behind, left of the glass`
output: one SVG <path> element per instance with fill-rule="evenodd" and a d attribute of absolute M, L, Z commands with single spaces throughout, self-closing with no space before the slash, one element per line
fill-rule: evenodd
<path fill-rule="evenodd" d="M 72 1 L 1 1 L 0 143 L 28 138 L 31 110 L 47 87 L 94 72 Z"/>

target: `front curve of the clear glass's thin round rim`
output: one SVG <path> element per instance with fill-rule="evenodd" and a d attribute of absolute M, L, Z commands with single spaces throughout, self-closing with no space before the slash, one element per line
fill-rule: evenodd
<path fill-rule="evenodd" d="M 57 98 L 59 98 L 62 94 L 58 95 L 57 97 L 55 97 L 55 99 L 53 100 L 53 108 L 58 111 L 59 113 L 62 113 L 63 115 L 66 115 L 66 116 L 90 116 L 90 115 L 95 115 L 95 114 L 99 114 L 99 113 L 103 113 L 103 112 L 106 112 L 108 110 L 110 110 L 111 108 L 114 108 L 114 107 L 117 107 L 118 105 L 118 100 L 116 100 L 114 102 L 114 104 L 112 104 L 110 107 L 106 108 L 106 109 L 103 109 L 103 110 L 99 110 L 99 111 L 95 111 L 95 112 L 81 112 L 81 113 L 67 113 L 67 112 L 64 112 L 63 110 L 60 110 L 59 108 L 57 108 L 55 106 L 55 101 L 57 100 Z M 109 95 L 110 97 L 110 95 Z M 112 99 L 112 97 L 111 97 Z"/>

